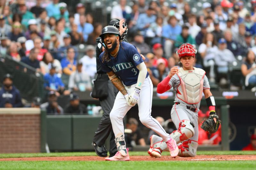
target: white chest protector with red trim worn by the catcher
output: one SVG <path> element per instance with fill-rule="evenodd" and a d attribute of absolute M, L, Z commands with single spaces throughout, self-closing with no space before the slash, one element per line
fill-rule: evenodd
<path fill-rule="evenodd" d="M 194 70 L 180 68 L 180 85 L 177 88 L 177 97 L 188 103 L 197 104 L 202 99 L 205 71 L 193 67 Z"/>

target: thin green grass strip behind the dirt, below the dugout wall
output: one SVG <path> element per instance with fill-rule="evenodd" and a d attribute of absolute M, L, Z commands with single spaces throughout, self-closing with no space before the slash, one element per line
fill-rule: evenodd
<path fill-rule="evenodd" d="M 147 156 L 147 152 L 129 152 L 132 156 Z M 163 152 L 162 155 L 169 155 Z M 256 155 L 256 151 L 197 151 L 197 155 Z M 58 152 L 58 153 L 4 153 L 0 158 L 21 158 L 21 157 L 56 157 L 56 156 L 97 156 L 95 152 Z"/>

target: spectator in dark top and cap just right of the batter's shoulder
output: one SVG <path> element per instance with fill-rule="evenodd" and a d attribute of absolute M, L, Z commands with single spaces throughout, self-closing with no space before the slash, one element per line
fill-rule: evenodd
<path fill-rule="evenodd" d="M 141 32 L 137 32 L 135 34 L 131 44 L 134 45 L 136 48 L 140 48 L 140 52 L 142 55 L 146 55 L 147 53 L 150 53 L 150 48 L 148 44 L 144 42 L 144 38 Z"/>

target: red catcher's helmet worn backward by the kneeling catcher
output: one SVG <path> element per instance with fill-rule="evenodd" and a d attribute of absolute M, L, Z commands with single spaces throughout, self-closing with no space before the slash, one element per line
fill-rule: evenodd
<path fill-rule="evenodd" d="M 182 44 L 179 49 L 176 51 L 176 54 L 181 58 L 181 57 L 184 57 L 184 56 L 193 56 L 195 57 L 196 56 L 196 48 L 189 44 L 189 43 L 185 43 L 185 44 Z"/>

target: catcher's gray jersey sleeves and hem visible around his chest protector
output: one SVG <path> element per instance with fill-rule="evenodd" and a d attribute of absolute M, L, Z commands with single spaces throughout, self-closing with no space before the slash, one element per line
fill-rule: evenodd
<path fill-rule="evenodd" d="M 200 102 L 201 101 L 199 101 L 199 103 L 197 103 L 197 104 L 188 104 L 188 103 L 180 100 L 177 97 L 177 90 L 178 90 L 178 86 L 180 85 L 180 78 L 179 78 L 179 76 L 177 74 L 172 76 L 171 80 L 169 81 L 169 85 L 171 87 L 173 87 L 173 90 L 176 92 L 176 94 L 175 94 L 175 102 L 180 102 L 181 105 L 187 105 L 187 106 L 191 106 L 191 107 L 195 107 L 195 108 L 199 108 L 200 107 Z M 209 85 L 208 78 L 204 75 L 204 77 L 203 77 L 203 90 L 205 90 L 205 89 L 210 90 L 210 85 Z"/>

